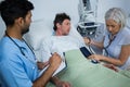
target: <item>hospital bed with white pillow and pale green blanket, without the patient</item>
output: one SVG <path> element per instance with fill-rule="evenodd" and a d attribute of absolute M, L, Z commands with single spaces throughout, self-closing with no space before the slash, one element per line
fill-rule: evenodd
<path fill-rule="evenodd" d="M 44 38 L 52 35 L 52 27 L 51 22 L 34 21 L 29 33 L 24 36 L 32 47 L 38 60 L 41 59 L 40 45 Z M 73 24 L 70 35 L 83 41 Z M 57 77 L 69 82 L 73 87 L 130 87 L 128 71 L 115 72 L 101 64 L 93 64 L 78 49 L 66 51 L 65 59 L 67 67 L 58 73 Z M 54 85 L 49 83 L 47 87 L 54 87 Z"/>

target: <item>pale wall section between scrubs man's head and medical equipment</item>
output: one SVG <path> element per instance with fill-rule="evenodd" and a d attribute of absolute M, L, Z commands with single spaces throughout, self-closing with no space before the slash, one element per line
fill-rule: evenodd
<path fill-rule="evenodd" d="M 79 0 L 31 0 L 35 3 L 32 20 L 43 18 L 53 21 L 56 13 L 66 12 L 72 17 L 73 23 L 79 21 Z"/>

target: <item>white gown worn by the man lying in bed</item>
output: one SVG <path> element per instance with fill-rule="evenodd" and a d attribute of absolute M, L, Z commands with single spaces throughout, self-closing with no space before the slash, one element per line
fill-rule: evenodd
<path fill-rule="evenodd" d="M 52 53 L 57 52 L 63 58 L 63 52 L 84 47 L 83 41 L 73 36 L 50 36 L 41 44 L 41 61 L 48 61 Z"/>

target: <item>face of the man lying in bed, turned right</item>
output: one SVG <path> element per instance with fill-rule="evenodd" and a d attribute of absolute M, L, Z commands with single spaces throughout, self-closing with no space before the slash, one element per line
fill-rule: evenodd
<path fill-rule="evenodd" d="M 62 35 L 68 35 L 69 30 L 70 30 L 70 21 L 64 20 L 63 23 L 61 24 Z"/>

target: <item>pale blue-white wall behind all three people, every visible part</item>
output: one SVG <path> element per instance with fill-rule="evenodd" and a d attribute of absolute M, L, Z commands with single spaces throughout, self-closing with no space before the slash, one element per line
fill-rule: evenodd
<path fill-rule="evenodd" d="M 1 0 L 0 0 L 1 1 Z M 79 21 L 78 4 L 79 0 L 30 0 L 35 10 L 32 11 L 32 20 L 43 18 L 44 21 L 52 22 L 55 13 L 66 12 L 70 15 L 73 24 Z M 90 0 L 94 1 L 94 0 Z M 122 8 L 127 14 L 130 14 L 130 0 L 95 0 L 98 1 L 98 22 L 104 23 L 104 14 L 106 10 L 112 7 Z M 0 17 L 0 38 L 4 32 L 4 24 Z"/>

